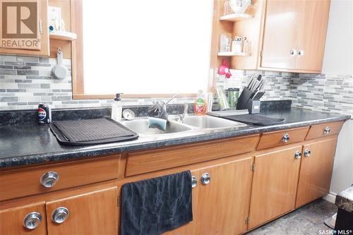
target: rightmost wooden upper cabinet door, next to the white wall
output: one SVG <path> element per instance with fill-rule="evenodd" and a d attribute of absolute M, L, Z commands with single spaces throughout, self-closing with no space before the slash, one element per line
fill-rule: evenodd
<path fill-rule="evenodd" d="M 330 0 L 298 1 L 298 56 L 295 68 L 321 71 L 330 13 Z"/>

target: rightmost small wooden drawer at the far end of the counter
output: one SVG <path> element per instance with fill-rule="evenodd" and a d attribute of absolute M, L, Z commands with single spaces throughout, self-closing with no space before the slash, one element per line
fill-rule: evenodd
<path fill-rule="evenodd" d="M 338 133 L 340 133 L 343 123 L 344 121 L 336 121 L 311 126 L 309 133 L 306 136 L 306 140 L 311 140 L 326 135 L 337 135 Z"/>

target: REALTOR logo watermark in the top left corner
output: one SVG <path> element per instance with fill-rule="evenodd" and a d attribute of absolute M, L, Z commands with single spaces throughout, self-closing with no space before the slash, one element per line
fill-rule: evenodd
<path fill-rule="evenodd" d="M 37 2 L 3 2 L 1 47 L 38 49 Z"/>

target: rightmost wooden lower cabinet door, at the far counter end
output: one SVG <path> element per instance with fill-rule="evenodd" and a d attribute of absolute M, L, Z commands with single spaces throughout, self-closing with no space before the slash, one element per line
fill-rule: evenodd
<path fill-rule="evenodd" d="M 326 195 L 330 190 L 337 138 L 304 145 L 296 207 Z"/>

